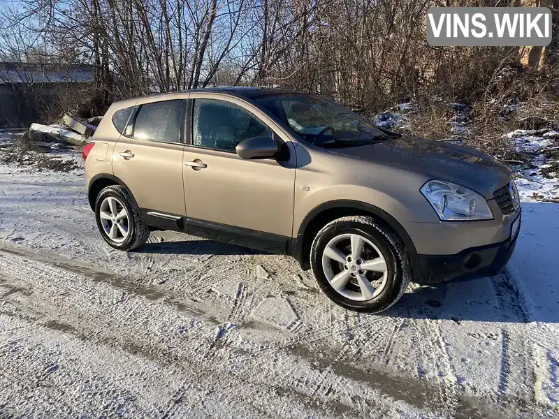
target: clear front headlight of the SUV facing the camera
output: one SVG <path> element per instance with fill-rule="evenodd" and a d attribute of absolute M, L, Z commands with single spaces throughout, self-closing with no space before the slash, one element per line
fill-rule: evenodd
<path fill-rule="evenodd" d="M 493 219 L 486 199 L 465 186 L 434 179 L 421 186 L 420 190 L 444 221 Z"/>

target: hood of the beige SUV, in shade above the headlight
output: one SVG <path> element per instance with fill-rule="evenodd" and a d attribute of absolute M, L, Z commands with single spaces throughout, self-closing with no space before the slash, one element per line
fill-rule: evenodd
<path fill-rule="evenodd" d="M 456 182 L 486 198 L 493 198 L 493 192 L 507 184 L 511 177 L 506 166 L 484 153 L 420 137 L 402 136 L 372 145 L 327 150 L 379 166 L 416 172 L 430 179 Z"/>

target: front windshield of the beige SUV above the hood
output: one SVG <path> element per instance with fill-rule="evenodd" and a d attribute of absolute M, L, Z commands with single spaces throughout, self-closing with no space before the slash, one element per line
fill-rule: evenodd
<path fill-rule="evenodd" d="M 354 147 L 390 139 L 367 119 L 318 96 L 277 94 L 256 102 L 320 147 Z"/>

